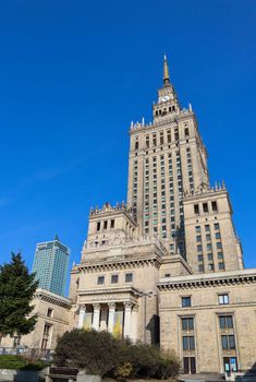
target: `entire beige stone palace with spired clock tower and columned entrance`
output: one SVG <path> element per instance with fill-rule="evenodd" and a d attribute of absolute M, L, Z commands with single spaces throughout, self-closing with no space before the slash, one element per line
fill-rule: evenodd
<path fill-rule="evenodd" d="M 93 327 L 174 350 L 184 373 L 252 369 L 256 270 L 244 270 L 229 193 L 209 183 L 195 112 L 181 107 L 166 57 L 153 122 L 132 123 L 130 136 L 127 203 L 89 212 L 69 299 L 41 297 L 59 314 L 41 324 L 51 347 Z"/>

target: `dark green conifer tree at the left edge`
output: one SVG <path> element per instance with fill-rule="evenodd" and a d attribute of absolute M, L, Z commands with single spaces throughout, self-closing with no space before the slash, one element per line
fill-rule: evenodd
<path fill-rule="evenodd" d="M 17 336 L 34 330 L 36 315 L 29 315 L 33 295 L 38 287 L 21 253 L 12 252 L 10 263 L 0 266 L 0 342 L 8 334 Z"/>

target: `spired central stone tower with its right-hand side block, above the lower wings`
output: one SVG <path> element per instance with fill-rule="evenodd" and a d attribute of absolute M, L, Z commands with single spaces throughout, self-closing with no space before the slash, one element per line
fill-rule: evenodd
<path fill-rule="evenodd" d="M 181 108 L 166 56 L 153 117 L 130 130 L 127 204 L 138 235 L 159 237 L 196 273 L 242 267 L 228 192 L 209 186 L 196 116 L 191 105 Z"/>

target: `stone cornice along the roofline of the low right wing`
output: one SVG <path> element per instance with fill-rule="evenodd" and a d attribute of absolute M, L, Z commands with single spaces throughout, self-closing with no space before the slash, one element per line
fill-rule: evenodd
<path fill-rule="evenodd" d="M 197 289 L 218 286 L 231 286 L 256 283 L 256 268 L 216 273 L 211 275 L 192 275 L 182 278 L 161 279 L 157 287 L 160 291 L 176 289 Z"/>

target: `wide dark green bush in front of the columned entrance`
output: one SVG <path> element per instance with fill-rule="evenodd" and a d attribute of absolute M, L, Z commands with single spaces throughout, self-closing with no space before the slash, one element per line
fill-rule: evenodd
<path fill-rule="evenodd" d="M 58 341 L 54 362 L 58 366 L 85 368 L 90 374 L 123 378 L 168 379 L 179 373 L 173 354 L 158 347 L 132 344 L 108 332 L 73 330 Z"/>

